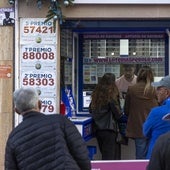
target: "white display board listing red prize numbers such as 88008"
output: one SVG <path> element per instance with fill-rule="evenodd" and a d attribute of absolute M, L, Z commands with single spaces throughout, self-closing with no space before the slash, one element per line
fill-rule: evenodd
<path fill-rule="evenodd" d="M 53 22 L 45 18 L 20 19 L 20 87 L 34 87 L 41 112 L 56 113 L 56 46 Z"/>

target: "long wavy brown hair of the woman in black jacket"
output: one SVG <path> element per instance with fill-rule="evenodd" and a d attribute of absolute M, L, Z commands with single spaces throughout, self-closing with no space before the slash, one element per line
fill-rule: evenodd
<path fill-rule="evenodd" d="M 117 100 L 119 91 L 115 84 L 115 75 L 105 73 L 92 93 L 92 108 L 101 108 L 112 100 Z"/>

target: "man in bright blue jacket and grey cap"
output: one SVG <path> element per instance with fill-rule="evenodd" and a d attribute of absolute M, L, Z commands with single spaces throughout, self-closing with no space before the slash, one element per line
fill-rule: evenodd
<path fill-rule="evenodd" d="M 166 76 L 159 82 L 152 83 L 152 85 L 156 87 L 160 106 L 151 110 L 143 124 L 143 133 L 150 140 L 146 159 L 150 159 L 158 137 L 170 131 L 170 123 L 162 120 L 163 116 L 170 113 L 170 76 Z"/>

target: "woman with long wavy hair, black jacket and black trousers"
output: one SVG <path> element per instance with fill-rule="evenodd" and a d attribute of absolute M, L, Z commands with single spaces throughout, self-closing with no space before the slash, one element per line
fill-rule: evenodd
<path fill-rule="evenodd" d="M 120 144 L 116 142 L 116 137 L 117 120 L 122 114 L 114 74 L 104 74 L 96 85 L 91 99 L 89 111 L 94 120 L 93 128 L 102 160 L 120 159 Z"/>

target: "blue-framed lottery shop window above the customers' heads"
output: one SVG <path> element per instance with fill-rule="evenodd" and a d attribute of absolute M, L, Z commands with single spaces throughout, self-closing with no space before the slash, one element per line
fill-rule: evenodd
<path fill-rule="evenodd" d="M 130 37 L 130 38 L 126 38 Z M 135 37 L 135 38 L 132 38 Z M 144 37 L 144 38 L 143 38 Z M 82 71 L 80 111 L 88 111 L 90 95 L 106 72 L 120 77 L 122 64 L 135 64 L 136 73 L 142 65 L 149 65 L 155 77 L 165 75 L 164 34 L 84 34 L 82 35 Z M 80 67 L 81 69 L 81 67 Z"/>

